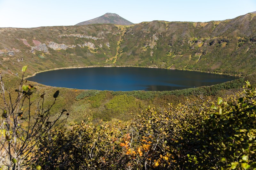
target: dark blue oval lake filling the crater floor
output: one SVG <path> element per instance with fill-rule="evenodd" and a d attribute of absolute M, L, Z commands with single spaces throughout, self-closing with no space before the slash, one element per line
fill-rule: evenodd
<path fill-rule="evenodd" d="M 112 91 L 168 91 L 215 85 L 238 77 L 137 67 L 94 67 L 46 71 L 27 80 L 44 85 Z"/>

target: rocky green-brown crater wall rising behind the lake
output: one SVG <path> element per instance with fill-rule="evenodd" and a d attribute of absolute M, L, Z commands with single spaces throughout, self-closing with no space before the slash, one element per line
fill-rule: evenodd
<path fill-rule="evenodd" d="M 79 66 L 154 66 L 246 76 L 254 72 L 254 13 L 224 21 L 0 28 L 1 68 L 13 75 Z"/>

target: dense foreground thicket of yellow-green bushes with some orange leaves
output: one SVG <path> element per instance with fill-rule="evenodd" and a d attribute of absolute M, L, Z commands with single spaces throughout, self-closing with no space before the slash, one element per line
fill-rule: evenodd
<path fill-rule="evenodd" d="M 39 164 L 48 169 L 255 169 L 255 106 L 256 89 L 247 82 L 227 101 L 149 107 L 128 123 L 92 124 L 88 118 L 42 141 L 40 148 L 52 144 L 60 156 L 49 159 L 38 150 Z"/>

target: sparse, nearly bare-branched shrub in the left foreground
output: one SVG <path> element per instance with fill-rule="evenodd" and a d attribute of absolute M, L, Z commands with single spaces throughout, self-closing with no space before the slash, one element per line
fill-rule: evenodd
<path fill-rule="evenodd" d="M 46 157 L 43 160 L 40 158 L 40 154 L 36 153 L 52 153 L 52 146 L 40 147 L 40 145 L 44 140 L 52 142 L 49 138 L 52 135 L 52 130 L 58 129 L 58 126 L 66 120 L 60 120 L 60 117 L 66 112 L 65 109 L 56 114 L 55 118 L 50 114 L 59 91 L 53 94 L 53 103 L 46 107 L 44 105 L 45 93 L 39 97 L 38 103 L 31 101 L 31 96 L 36 88 L 25 84 L 23 77 L 26 69 L 27 66 L 22 68 L 22 79 L 18 89 L 15 90 L 16 97 L 14 99 L 13 93 L 5 89 L 0 73 L 0 92 L 4 101 L 0 120 L 0 167 L 8 170 L 23 169 L 23 167 L 41 169 L 42 164 L 47 167 L 49 160 Z M 32 110 L 32 108 L 36 109 Z"/>

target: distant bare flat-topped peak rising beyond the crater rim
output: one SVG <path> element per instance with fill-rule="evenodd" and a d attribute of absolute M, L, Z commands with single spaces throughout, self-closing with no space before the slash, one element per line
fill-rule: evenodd
<path fill-rule="evenodd" d="M 76 26 L 83 26 L 83 25 L 89 25 L 89 24 L 117 24 L 117 25 L 132 25 L 133 23 L 120 17 L 116 13 L 106 13 L 100 17 L 83 21 Z"/>

